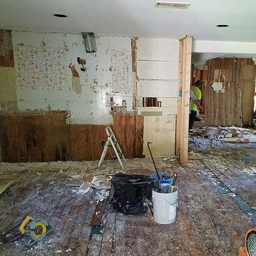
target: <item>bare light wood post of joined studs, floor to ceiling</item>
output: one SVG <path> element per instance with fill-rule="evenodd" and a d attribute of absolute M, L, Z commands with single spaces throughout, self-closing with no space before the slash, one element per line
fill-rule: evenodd
<path fill-rule="evenodd" d="M 183 166 L 187 165 L 189 97 L 191 78 L 192 36 L 187 35 L 179 43 L 178 109 L 176 124 L 176 156 Z"/>

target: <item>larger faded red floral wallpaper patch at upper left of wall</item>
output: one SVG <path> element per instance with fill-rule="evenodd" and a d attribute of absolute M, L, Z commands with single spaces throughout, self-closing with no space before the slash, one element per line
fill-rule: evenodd
<path fill-rule="evenodd" d="M 22 90 L 69 90 L 65 48 L 14 47 L 16 87 Z"/>

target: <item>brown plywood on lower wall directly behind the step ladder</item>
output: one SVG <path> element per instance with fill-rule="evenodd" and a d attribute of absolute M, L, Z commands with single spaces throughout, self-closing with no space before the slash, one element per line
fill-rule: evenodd
<path fill-rule="evenodd" d="M 135 116 L 115 115 L 113 118 L 114 124 L 111 128 L 124 157 L 143 157 L 143 117 L 136 116 L 135 120 Z M 108 139 L 105 128 L 106 125 L 71 125 L 72 160 L 99 160 L 103 152 L 101 141 Z M 111 153 L 108 151 L 105 159 L 111 158 Z"/>

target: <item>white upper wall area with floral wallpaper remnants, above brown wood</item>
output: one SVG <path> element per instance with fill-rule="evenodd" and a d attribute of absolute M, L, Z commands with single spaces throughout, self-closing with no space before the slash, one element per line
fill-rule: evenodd
<path fill-rule="evenodd" d="M 65 110 L 79 124 L 113 123 L 111 97 L 132 110 L 131 39 L 97 36 L 97 42 L 91 54 L 81 34 L 13 31 L 18 109 Z"/>

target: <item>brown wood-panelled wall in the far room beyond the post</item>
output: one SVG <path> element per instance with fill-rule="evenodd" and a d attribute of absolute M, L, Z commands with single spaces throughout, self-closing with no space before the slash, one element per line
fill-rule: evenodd
<path fill-rule="evenodd" d="M 216 58 L 206 64 L 209 66 L 205 89 L 205 125 L 252 126 L 255 94 L 253 60 Z M 214 72 L 219 72 L 219 81 L 212 81 Z"/>

